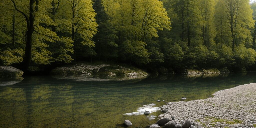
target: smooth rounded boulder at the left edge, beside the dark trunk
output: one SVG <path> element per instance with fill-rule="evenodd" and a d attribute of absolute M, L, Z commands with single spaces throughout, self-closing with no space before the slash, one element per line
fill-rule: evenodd
<path fill-rule="evenodd" d="M 12 66 L 0 66 L 0 77 L 21 77 L 23 71 Z"/>

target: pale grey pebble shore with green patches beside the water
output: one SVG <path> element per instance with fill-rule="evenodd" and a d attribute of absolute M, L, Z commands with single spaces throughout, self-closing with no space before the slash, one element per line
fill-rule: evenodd
<path fill-rule="evenodd" d="M 170 122 L 193 122 L 196 127 L 256 127 L 256 83 L 216 92 L 213 98 L 189 102 L 170 102 L 159 118 Z"/>

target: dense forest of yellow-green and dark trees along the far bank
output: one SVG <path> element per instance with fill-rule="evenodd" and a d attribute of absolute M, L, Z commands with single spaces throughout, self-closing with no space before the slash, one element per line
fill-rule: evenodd
<path fill-rule="evenodd" d="M 0 65 L 254 71 L 255 20 L 249 0 L 3 0 Z"/>

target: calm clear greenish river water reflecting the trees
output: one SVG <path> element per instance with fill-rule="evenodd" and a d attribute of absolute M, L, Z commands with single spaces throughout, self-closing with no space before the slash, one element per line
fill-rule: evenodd
<path fill-rule="evenodd" d="M 124 114 L 138 112 L 142 107 L 178 102 L 182 97 L 188 98 L 186 101 L 206 99 L 219 90 L 255 83 L 255 78 L 254 72 L 151 75 L 143 80 L 122 82 L 74 82 L 37 76 L 24 77 L 23 81 L 10 86 L 8 81 L 14 82 L 0 79 L 5 85 L 0 86 L 0 127 L 119 128 L 123 127 L 124 120 L 130 120 L 131 128 L 142 128 L 155 123 L 154 116 L 161 111 L 148 117 Z"/>

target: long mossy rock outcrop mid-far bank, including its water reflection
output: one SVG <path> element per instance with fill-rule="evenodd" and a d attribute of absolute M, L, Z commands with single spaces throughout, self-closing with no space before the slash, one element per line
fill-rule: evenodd
<path fill-rule="evenodd" d="M 51 75 L 57 79 L 74 81 L 123 81 L 144 79 L 148 74 L 132 66 L 81 62 L 76 65 L 58 67 L 51 71 Z"/>

